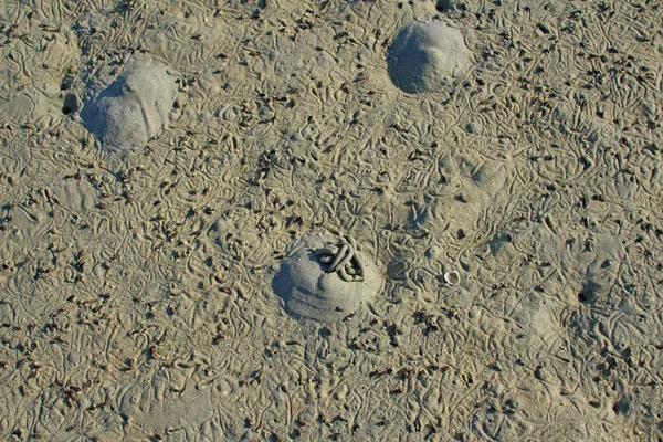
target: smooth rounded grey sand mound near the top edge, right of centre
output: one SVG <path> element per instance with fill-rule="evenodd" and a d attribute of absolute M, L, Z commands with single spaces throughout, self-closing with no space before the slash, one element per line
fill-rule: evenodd
<path fill-rule="evenodd" d="M 461 31 L 441 21 L 406 25 L 387 53 L 391 81 L 408 93 L 453 84 L 467 73 L 472 59 Z"/>

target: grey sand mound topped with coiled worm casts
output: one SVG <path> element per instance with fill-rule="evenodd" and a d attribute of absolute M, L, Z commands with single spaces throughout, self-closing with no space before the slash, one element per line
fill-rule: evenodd
<path fill-rule="evenodd" d="M 293 316 L 343 319 L 373 298 L 382 285 L 361 250 L 351 236 L 306 234 L 282 262 L 272 288 Z"/>

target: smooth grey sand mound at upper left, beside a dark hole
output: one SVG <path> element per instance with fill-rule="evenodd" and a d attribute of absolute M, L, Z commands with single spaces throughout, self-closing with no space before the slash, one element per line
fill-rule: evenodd
<path fill-rule="evenodd" d="M 164 66 L 134 66 L 81 112 L 85 128 L 105 149 L 130 150 L 161 134 L 177 94 Z"/>

